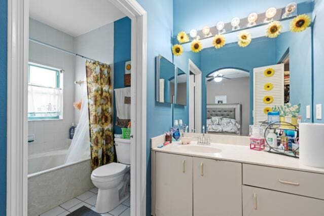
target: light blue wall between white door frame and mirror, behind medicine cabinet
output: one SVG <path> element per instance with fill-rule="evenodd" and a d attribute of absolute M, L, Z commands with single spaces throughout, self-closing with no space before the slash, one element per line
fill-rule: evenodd
<path fill-rule="evenodd" d="M 137 0 L 148 14 L 147 44 L 147 215 L 151 215 L 150 138 L 168 130 L 172 122 L 171 104 L 156 102 L 155 57 L 161 54 L 172 62 L 172 0 Z"/>

